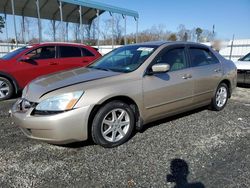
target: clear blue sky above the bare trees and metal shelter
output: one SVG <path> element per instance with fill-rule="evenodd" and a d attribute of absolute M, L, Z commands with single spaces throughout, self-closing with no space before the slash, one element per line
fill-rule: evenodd
<path fill-rule="evenodd" d="M 139 31 L 152 26 L 164 25 L 175 32 L 180 24 L 187 29 L 200 27 L 212 31 L 215 25 L 216 38 L 250 39 L 250 0 L 94 0 L 113 6 L 135 10 L 139 13 Z M 101 21 L 109 17 L 101 16 Z M 7 19 L 9 36 L 14 38 L 11 16 Z M 20 27 L 20 24 L 19 26 Z M 46 36 L 46 21 L 43 21 Z M 128 18 L 127 33 L 136 31 L 133 18 Z M 20 29 L 20 28 L 18 28 Z M 37 27 L 34 28 L 36 30 Z M 20 30 L 19 30 L 20 31 Z M 5 34 L 0 34 L 0 39 Z"/>

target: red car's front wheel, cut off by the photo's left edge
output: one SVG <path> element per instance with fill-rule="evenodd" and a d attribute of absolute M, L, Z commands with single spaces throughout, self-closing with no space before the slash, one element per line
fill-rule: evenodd
<path fill-rule="evenodd" d="M 12 83 L 4 78 L 0 77 L 0 101 L 9 99 L 14 93 L 14 87 Z"/>

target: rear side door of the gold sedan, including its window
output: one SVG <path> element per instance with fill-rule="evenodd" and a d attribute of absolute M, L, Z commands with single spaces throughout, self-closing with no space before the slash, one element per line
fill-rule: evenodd
<path fill-rule="evenodd" d="M 208 102 L 221 80 L 221 63 L 209 48 L 191 45 L 188 52 L 193 69 L 194 104 Z"/>

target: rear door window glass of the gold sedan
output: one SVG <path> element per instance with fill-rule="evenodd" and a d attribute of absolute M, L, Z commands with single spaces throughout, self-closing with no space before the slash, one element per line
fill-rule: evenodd
<path fill-rule="evenodd" d="M 210 52 L 208 49 L 190 48 L 189 52 L 192 67 L 219 63 L 216 57 L 214 57 L 212 52 Z"/>

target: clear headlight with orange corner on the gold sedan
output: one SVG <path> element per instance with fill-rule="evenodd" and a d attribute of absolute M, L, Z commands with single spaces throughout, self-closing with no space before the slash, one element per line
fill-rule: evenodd
<path fill-rule="evenodd" d="M 36 106 L 36 110 L 39 111 L 65 111 L 71 110 L 80 97 L 83 95 L 83 91 L 76 91 L 72 93 L 65 93 L 62 95 L 50 97 L 45 99 Z"/>

